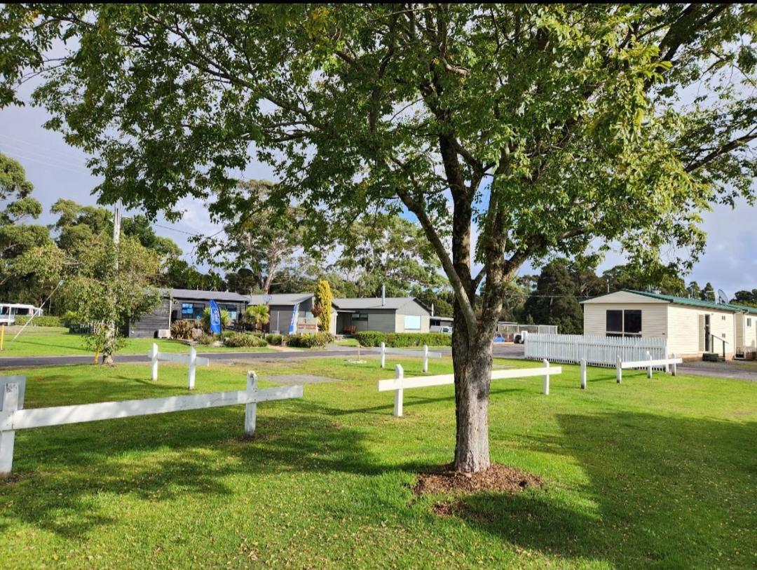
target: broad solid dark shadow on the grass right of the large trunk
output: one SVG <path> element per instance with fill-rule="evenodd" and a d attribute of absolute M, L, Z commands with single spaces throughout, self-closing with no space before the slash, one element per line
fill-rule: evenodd
<path fill-rule="evenodd" d="M 562 434 L 533 447 L 578 462 L 588 484 L 478 494 L 458 515 L 522 549 L 618 568 L 751 567 L 757 422 L 643 413 L 558 420 Z"/>

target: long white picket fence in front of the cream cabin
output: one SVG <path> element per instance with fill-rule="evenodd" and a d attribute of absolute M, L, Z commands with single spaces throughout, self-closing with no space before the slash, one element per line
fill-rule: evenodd
<path fill-rule="evenodd" d="M 525 337 L 525 357 L 529 360 L 575 363 L 586 360 L 591 366 L 615 366 L 623 361 L 664 360 L 668 357 L 665 338 L 604 337 L 599 335 L 539 335 Z M 647 354 L 649 353 L 649 354 Z"/>

